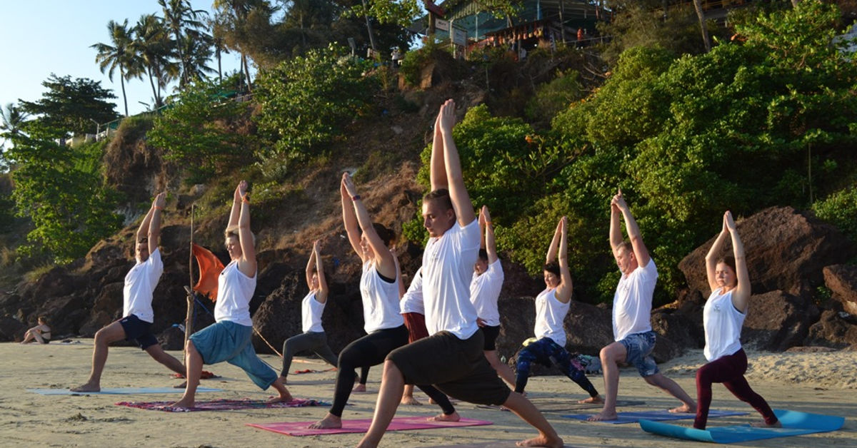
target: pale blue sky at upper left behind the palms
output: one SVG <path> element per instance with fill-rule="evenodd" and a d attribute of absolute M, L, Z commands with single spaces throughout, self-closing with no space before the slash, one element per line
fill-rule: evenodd
<path fill-rule="evenodd" d="M 89 45 L 110 43 L 108 21 L 128 19 L 131 26 L 143 14 L 163 15 L 156 0 L 4 0 L 0 4 L 0 105 L 41 98 L 42 81 L 54 73 L 101 81 L 117 96 L 116 111 L 123 114 L 119 74 L 114 73 L 113 82 L 102 75 L 95 63 L 96 51 Z M 191 0 L 191 4 L 194 9 L 212 9 L 212 0 Z M 223 56 L 224 73 L 239 65 L 236 53 Z M 210 66 L 217 69 L 217 62 Z M 147 80 L 127 81 L 125 91 L 131 115 L 146 110 L 138 101 L 152 100 Z"/>

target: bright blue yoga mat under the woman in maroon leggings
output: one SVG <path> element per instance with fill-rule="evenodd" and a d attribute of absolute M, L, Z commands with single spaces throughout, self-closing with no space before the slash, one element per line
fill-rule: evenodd
<path fill-rule="evenodd" d="M 676 439 L 732 444 L 801 434 L 828 433 L 836 431 L 845 423 L 844 417 L 836 417 L 834 415 L 808 414 L 806 412 L 782 409 L 774 409 L 774 414 L 776 414 L 776 418 L 780 419 L 782 428 L 735 426 L 695 429 L 645 420 L 640 421 L 640 427 L 648 433 L 665 435 Z"/>

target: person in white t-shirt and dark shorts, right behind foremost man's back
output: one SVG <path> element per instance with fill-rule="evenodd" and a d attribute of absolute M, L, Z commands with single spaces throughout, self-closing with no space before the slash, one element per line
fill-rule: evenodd
<path fill-rule="evenodd" d="M 497 337 L 500 336 L 500 310 L 497 300 L 503 287 L 503 266 L 497 256 L 497 245 L 494 242 L 494 224 L 491 224 L 491 213 L 488 206 L 482 206 L 479 211 L 479 229 L 482 243 L 479 258 L 473 265 L 473 278 L 470 279 L 470 302 L 476 307 L 476 325 L 485 337 L 485 358 L 491 367 L 497 371 L 506 384 L 515 384 L 515 373 L 512 367 L 500 361 L 497 355 Z"/>

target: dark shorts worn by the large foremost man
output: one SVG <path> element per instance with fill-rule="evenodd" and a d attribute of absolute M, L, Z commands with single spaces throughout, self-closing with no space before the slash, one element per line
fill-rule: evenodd
<path fill-rule="evenodd" d="M 387 355 L 411 385 L 434 385 L 450 397 L 476 404 L 506 403 L 512 391 L 488 364 L 482 332 L 458 339 L 437 332 Z"/>

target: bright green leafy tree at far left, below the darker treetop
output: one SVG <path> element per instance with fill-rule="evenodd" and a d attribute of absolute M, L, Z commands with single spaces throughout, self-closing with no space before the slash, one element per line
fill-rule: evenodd
<path fill-rule="evenodd" d="M 19 254 L 50 254 L 59 263 L 81 257 L 102 238 L 119 229 L 117 194 L 104 185 L 100 167 L 103 143 L 63 146 L 56 131 L 31 124 L 27 135 L 13 138 L 9 157 L 15 212 L 29 217 L 33 230 Z"/>

